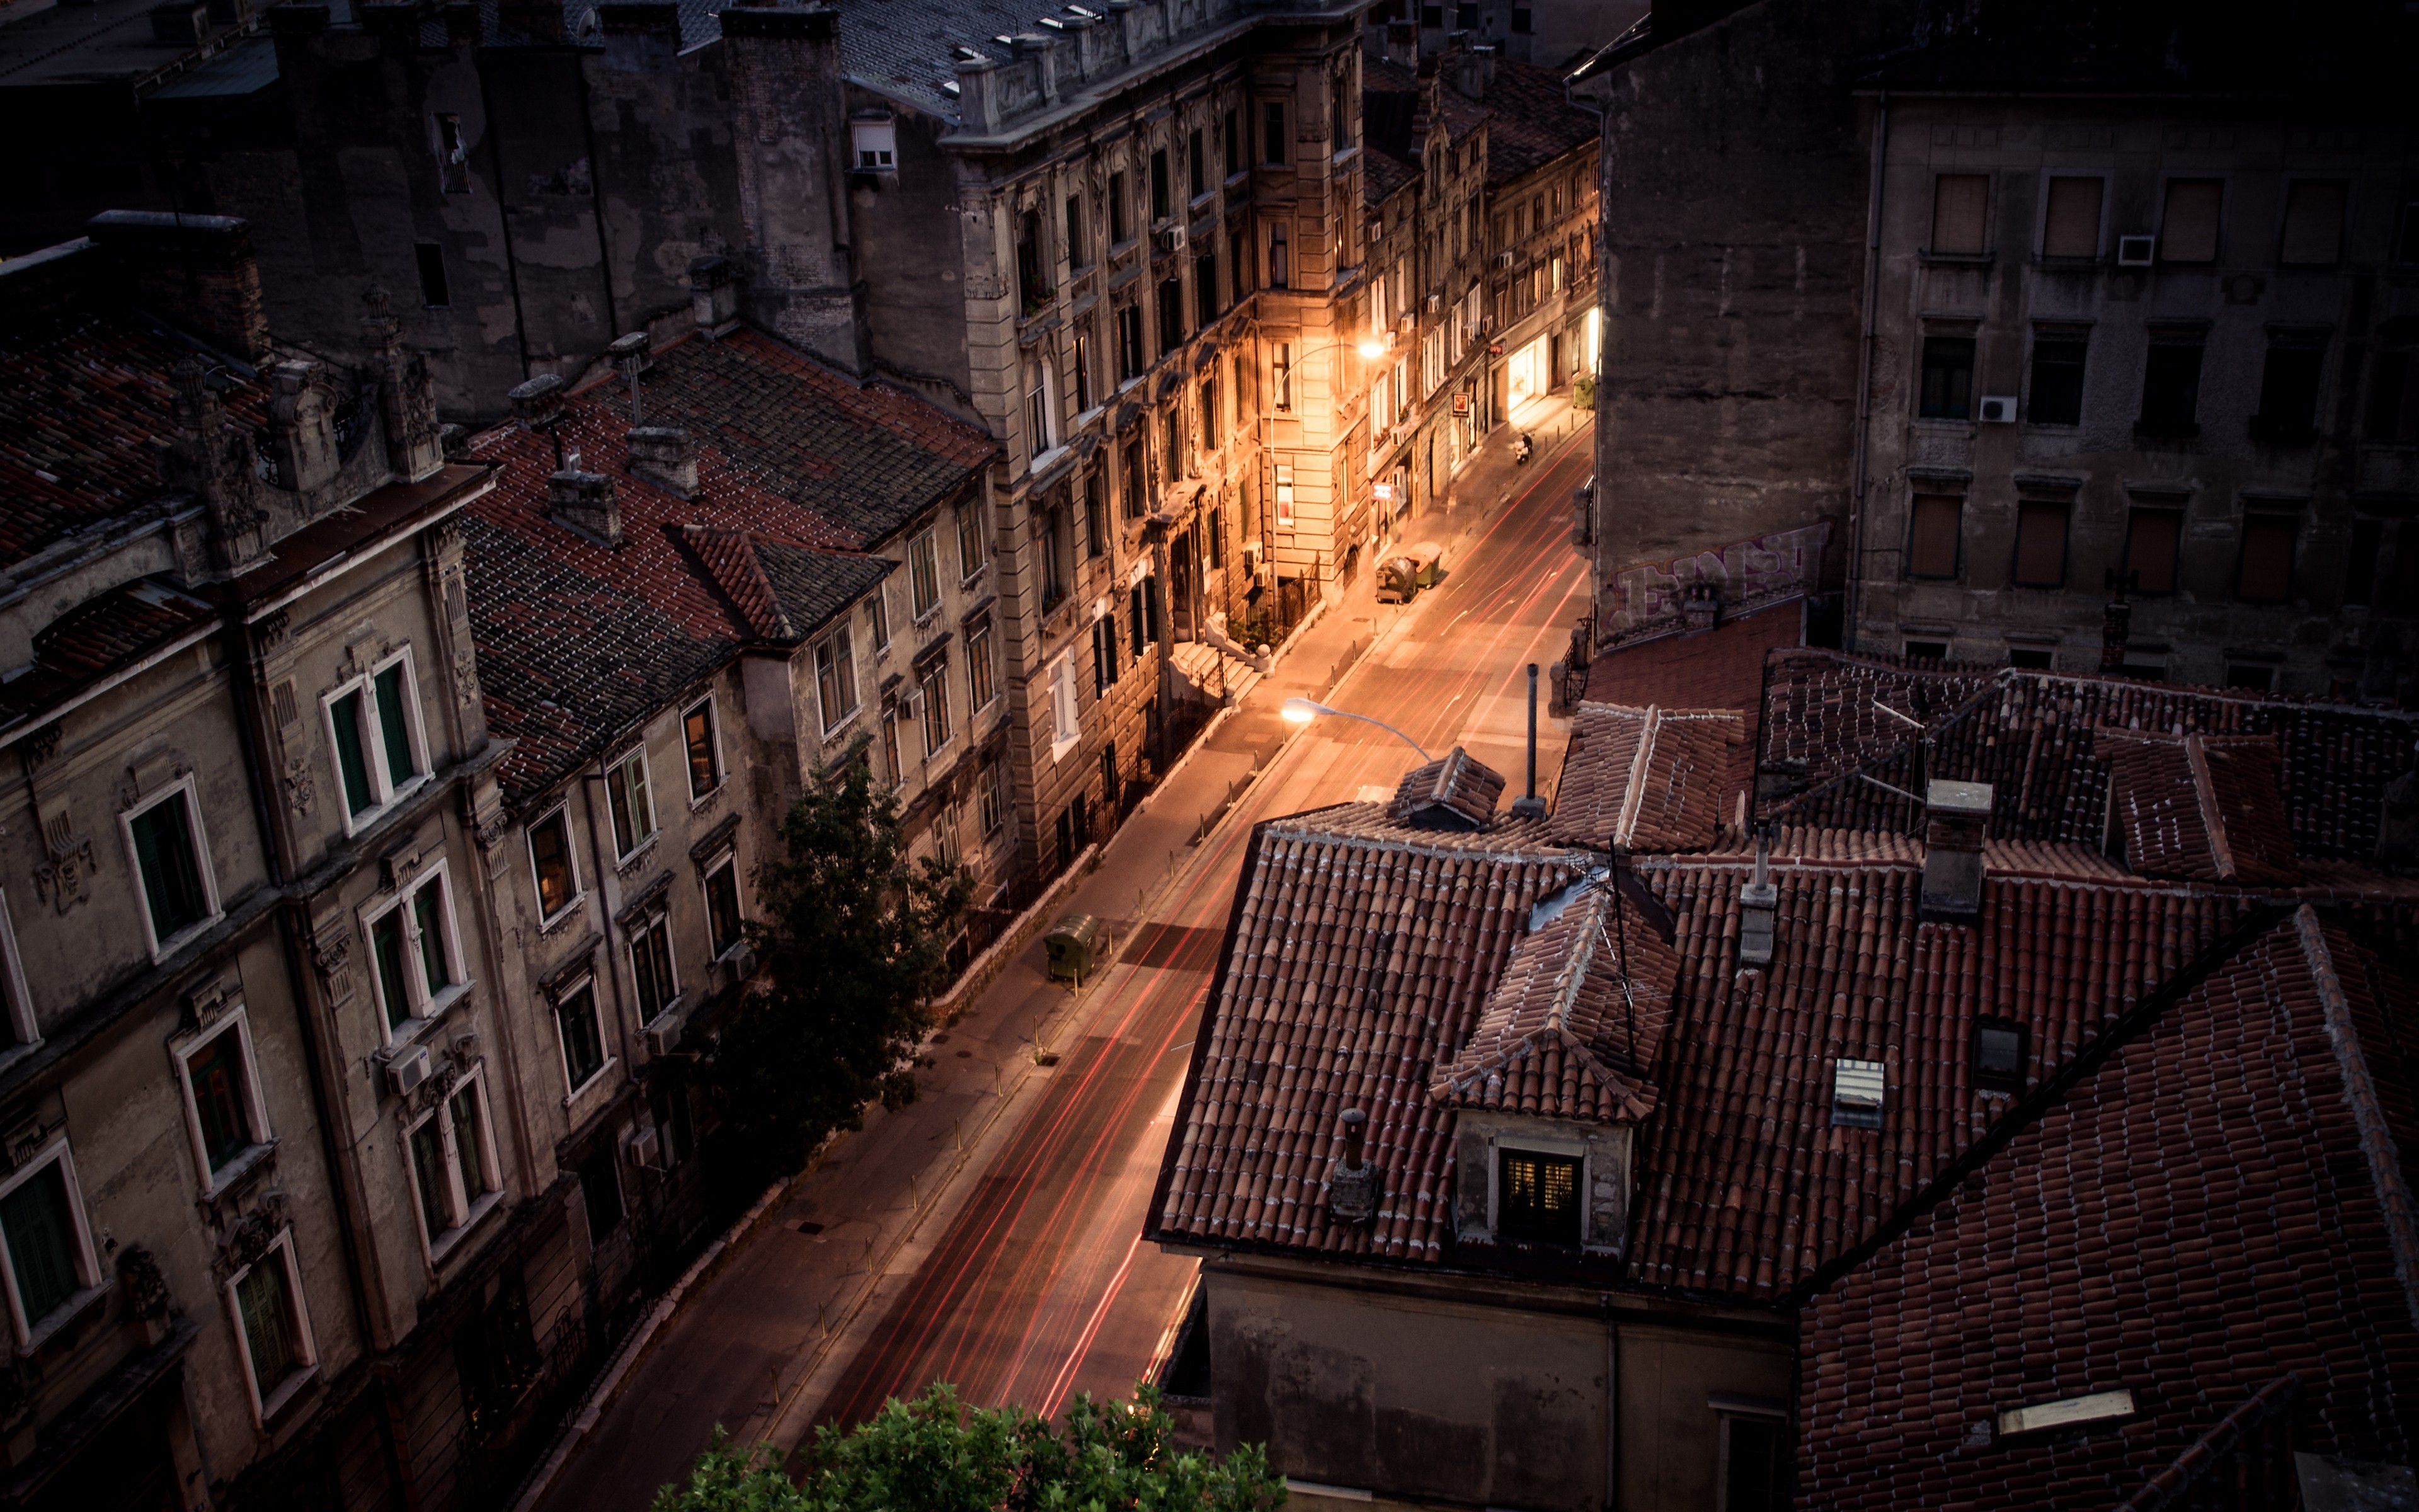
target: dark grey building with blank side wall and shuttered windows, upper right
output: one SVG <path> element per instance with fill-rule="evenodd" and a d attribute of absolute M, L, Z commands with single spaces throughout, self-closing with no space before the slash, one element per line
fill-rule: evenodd
<path fill-rule="evenodd" d="M 1599 581 L 1824 523 L 1865 648 L 2412 697 L 2409 39 L 2160 17 L 1681 5 L 1582 70 Z"/>

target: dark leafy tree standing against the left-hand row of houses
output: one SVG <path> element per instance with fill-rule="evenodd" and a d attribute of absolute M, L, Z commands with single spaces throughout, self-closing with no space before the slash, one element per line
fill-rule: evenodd
<path fill-rule="evenodd" d="M 764 985 L 714 1055 L 718 1161 L 755 1190 L 789 1176 L 864 1108 L 914 1101 L 917 1043 L 965 917 L 963 866 L 910 861 L 897 796 L 864 762 L 818 772 L 755 871 L 747 936 Z"/>

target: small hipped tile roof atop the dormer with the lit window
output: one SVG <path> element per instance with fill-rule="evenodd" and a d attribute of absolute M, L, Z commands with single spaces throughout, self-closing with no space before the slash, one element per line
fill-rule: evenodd
<path fill-rule="evenodd" d="M 1478 1028 L 1427 1091 L 1442 1108 L 1493 1108 L 1587 1123 L 1655 1110 L 1645 1067 L 1672 1018 L 1679 958 L 1623 917 L 1601 883 L 1512 946 Z"/>

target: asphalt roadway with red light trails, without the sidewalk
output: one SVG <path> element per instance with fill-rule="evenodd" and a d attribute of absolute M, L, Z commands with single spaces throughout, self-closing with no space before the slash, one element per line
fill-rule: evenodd
<path fill-rule="evenodd" d="M 1357 602 L 1372 631 L 1415 614 L 1343 680 L 1333 702 L 1384 719 L 1427 752 L 1451 745 L 1522 791 L 1524 663 L 1551 665 L 1587 607 L 1587 571 L 1568 542 L 1570 491 L 1589 472 L 1580 445 L 1522 477 L 1524 491 L 1461 549 L 1461 564 L 1410 610 Z M 1345 612 L 1355 612 L 1347 605 Z M 1272 721 L 1272 711 L 1258 711 Z M 1243 748 L 1272 731 L 1229 728 Z M 1538 781 L 1560 767 L 1560 721 L 1538 719 Z M 1318 721 L 1268 767 L 1200 847 L 1142 927 L 1127 924 L 1122 965 L 1103 980 L 1081 1040 L 1043 1098 L 972 1176 L 912 1280 L 813 1410 L 849 1425 L 890 1396 L 951 1381 L 965 1401 L 1055 1413 L 1072 1391 L 1125 1393 L 1166 1345 L 1193 1260 L 1142 1243 L 1193 1033 L 1234 900 L 1251 825 L 1367 786 L 1391 791 L 1418 757 L 1355 721 Z M 965 1176 L 960 1176 L 965 1181 Z"/>

